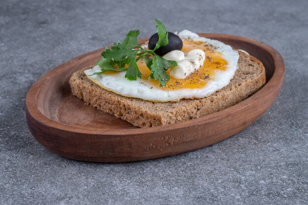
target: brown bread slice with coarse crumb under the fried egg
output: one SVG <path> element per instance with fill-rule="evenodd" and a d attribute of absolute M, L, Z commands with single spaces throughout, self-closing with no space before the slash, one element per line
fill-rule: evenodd
<path fill-rule="evenodd" d="M 181 99 L 177 102 L 150 102 L 124 97 L 92 83 L 83 68 L 70 78 L 72 93 L 93 107 L 120 117 L 138 127 L 174 124 L 202 117 L 235 105 L 258 91 L 265 84 L 262 63 L 243 52 L 238 69 L 228 86 L 202 99 Z"/>

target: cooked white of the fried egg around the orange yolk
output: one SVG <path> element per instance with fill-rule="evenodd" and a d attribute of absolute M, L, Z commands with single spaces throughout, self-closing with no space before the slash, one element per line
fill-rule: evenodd
<path fill-rule="evenodd" d="M 177 90 L 163 90 L 153 87 L 145 79 L 137 78 L 136 81 L 129 81 L 125 78 L 125 71 L 112 75 L 104 73 L 92 75 L 94 72 L 100 71 L 99 66 L 94 66 L 92 69 L 85 70 L 84 72 L 95 84 L 109 91 L 126 97 L 141 98 L 155 102 L 178 101 L 182 98 L 204 98 L 227 86 L 237 70 L 239 53 L 233 50 L 229 45 L 218 40 L 200 37 L 198 34 L 189 30 L 183 30 L 179 32 L 178 35 L 181 38 L 189 37 L 194 41 L 204 41 L 216 46 L 216 51 L 221 52 L 222 58 L 228 62 L 226 69 L 215 70 L 214 78 L 211 78 L 203 88 L 182 88 Z"/>

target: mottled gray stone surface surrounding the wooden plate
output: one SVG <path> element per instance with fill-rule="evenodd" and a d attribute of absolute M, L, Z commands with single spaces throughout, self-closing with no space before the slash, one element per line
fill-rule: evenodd
<path fill-rule="evenodd" d="M 0 204 L 308 203 L 308 1 L 0 2 Z M 25 96 L 45 72 L 123 39 L 170 31 L 228 33 L 273 46 L 282 90 L 246 130 L 177 156 L 98 164 L 53 154 L 31 136 Z"/>

